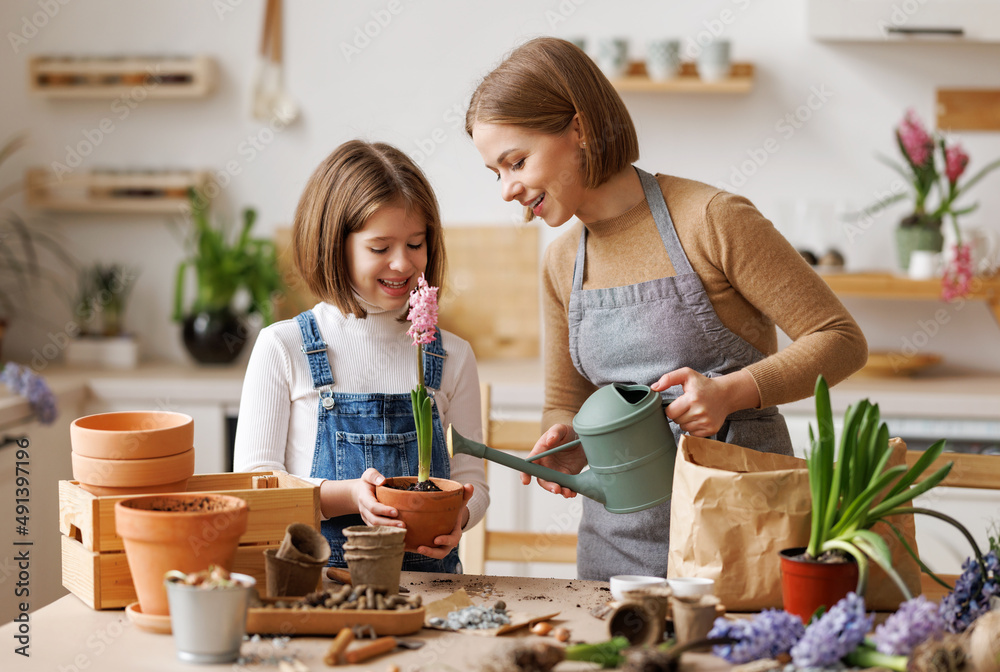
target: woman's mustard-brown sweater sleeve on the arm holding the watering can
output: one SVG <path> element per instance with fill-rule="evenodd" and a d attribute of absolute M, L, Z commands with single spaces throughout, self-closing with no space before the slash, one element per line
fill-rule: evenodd
<path fill-rule="evenodd" d="M 704 240 L 717 245 L 711 256 L 732 288 L 793 341 L 746 369 L 762 407 L 812 396 L 819 374 L 835 385 L 864 366 L 868 344 L 857 323 L 757 208 L 720 192 L 705 222 Z"/>

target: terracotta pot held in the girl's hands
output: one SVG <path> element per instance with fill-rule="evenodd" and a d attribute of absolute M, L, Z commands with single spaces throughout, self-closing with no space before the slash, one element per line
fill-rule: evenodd
<path fill-rule="evenodd" d="M 406 490 L 417 482 L 416 476 L 387 478 L 375 487 L 375 498 L 399 512 L 398 519 L 406 524 L 406 548 L 434 546 L 434 539 L 455 529 L 462 511 L 462 484 L 443 478 L 432 478 L 441 492 Z M 397 490 L 395 487 L 402 487 Z"/>

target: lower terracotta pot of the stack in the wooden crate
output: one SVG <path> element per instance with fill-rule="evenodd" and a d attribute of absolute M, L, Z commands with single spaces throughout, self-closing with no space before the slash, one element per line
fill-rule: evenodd
<path fill-rule="evenodd" d="M 194 474 L 194 448 L 143 460 L 102 460 L 72 453 L 73 478 L 105 488 L 142 488 L 186 481 Z"/>

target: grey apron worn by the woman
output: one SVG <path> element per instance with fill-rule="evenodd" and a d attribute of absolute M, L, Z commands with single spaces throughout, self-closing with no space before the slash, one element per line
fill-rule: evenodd
<path fill-rule="evenodd" d="M 598 387 L 611 383 L 652 385 L 675 369 L 691 367 L 708 377 L 739 371 L 765 355 L 727 329 L 691 268 L 674 230 L 660 185 L 636 168 L 674 277 L 625 287 L 583 289 L 587 229 L 573 270 L 569 300 L 569 351 L 580 374 Z M 641 260 L 637 257 L 637 263 Z M 677 385 L 664 399 L 683 393 Z M 670 423 L 674 440 L 680 428 Z M 729 415 L 717 440 L 754 450 L 792 454 L 785 420 L 777 407 Z M 607 581 L 615 574 L 667 575 L 670 502 L 637 513 L 609 513 L 583 500 L 577 541 L 577 574 Z"/>

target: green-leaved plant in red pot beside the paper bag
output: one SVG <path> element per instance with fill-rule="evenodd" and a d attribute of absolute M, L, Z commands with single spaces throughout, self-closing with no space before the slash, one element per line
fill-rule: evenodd
<path fill-rule="evenodd" d="M 909 599 L 910 591 L 893 567 L 888 544 L 872 531 L 876 523 L 889 522 L 892 516 L 922 513 L 945 520 L 963 532 L 979 555 L 975 542 L 957 521 L 930 509 L 906 506 L 914 497 L 937 486 L 951 470 L 949 462 L 917 483 L 941 455 L 944 440 L 924 451 L 910 468 L 889 467 L 889 429 L 880 420 L 878 405 L 865 399 L 848 408 L 840 446 L 835 449 L 830 391 L 823 376 L 816 381 L 815 394 L 817 432 L 814 435 L 810 427 L 811 450 L 806 456 L 812 495 L 809 545 L 781 552 L 786 611 L 808 621 L 817 608 L 832 606 L 851 590 L 863 595 L 869 560 L 881 567 Z M 891 523 L 890 528 L 898 535 Z M 905 540 L 903 544 L 921 569 L 940 582 Z"/>

